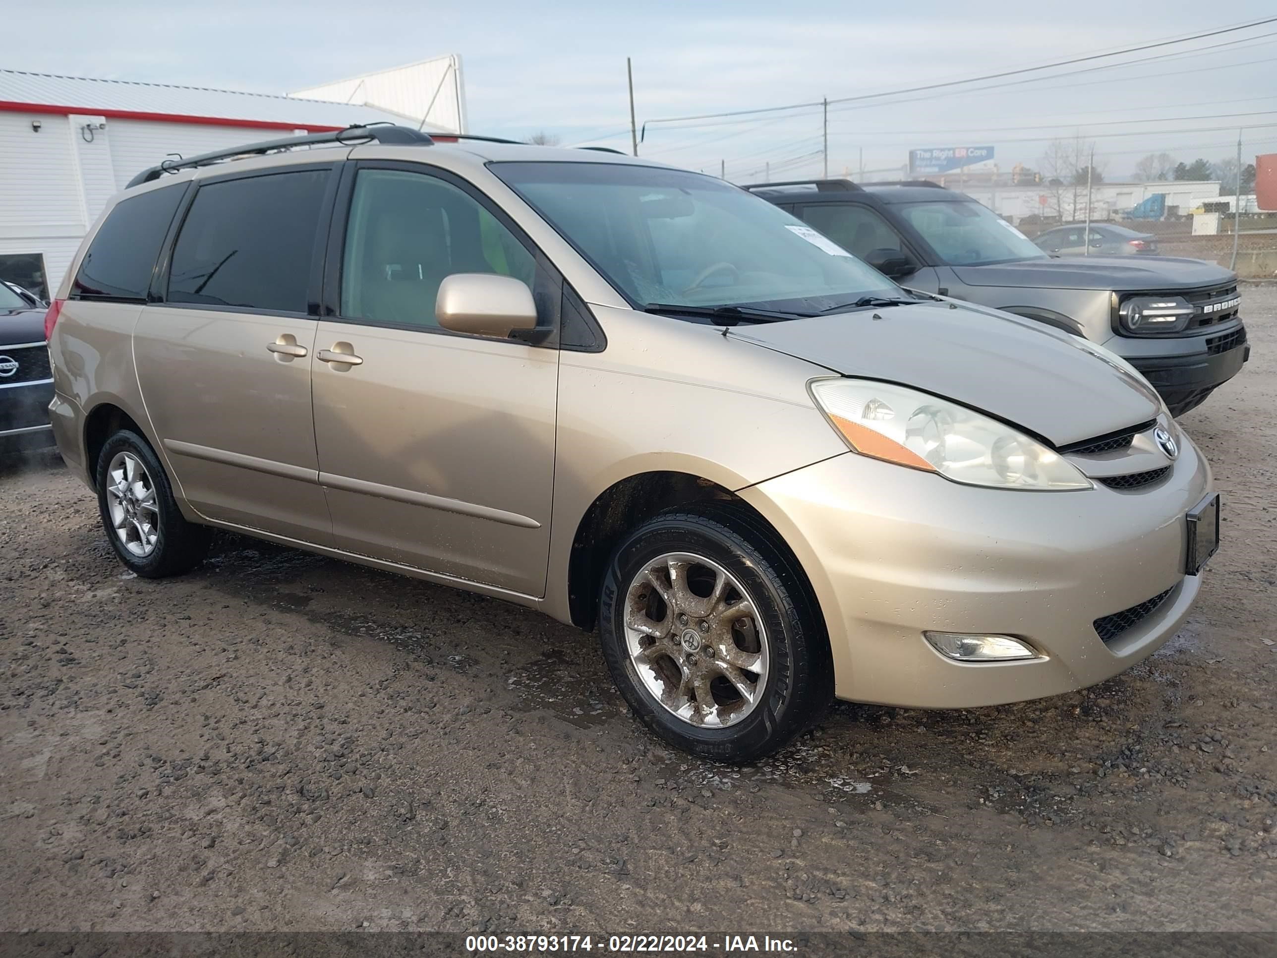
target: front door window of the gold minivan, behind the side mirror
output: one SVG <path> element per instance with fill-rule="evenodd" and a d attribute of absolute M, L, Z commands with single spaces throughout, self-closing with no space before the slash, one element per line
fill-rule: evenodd
<path fill-rule="evenodd" d="M 341 314 L 438 326 L 434 300 L 452 273 L 497 273 L 535 291 L 536 261 L 474 198 L 433 176 L 364 170 L 355 180 Z"/>

